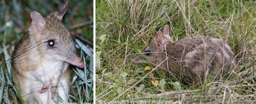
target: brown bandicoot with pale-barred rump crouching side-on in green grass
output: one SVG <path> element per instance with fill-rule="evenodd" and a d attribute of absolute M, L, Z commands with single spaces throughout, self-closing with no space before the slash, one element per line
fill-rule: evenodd
<path fill-rule="evenodd" d="M 146 46 L 143 50 L 144 54 L 137 56 L 132 62 L 140 63 L 146 60 L 158 65 L 165 60 L 167 54 L 168 61 L 160 65 L 161 69 L 169 69 L 176 75 L 181 74 L 194 81 L 203 81 L 205 75 L 216 80 L 230 69 L 234 69 L 234 54 L 226 42 L 209 36 L 188 37 L 173 42 L 171 38 L 165 38 L 170 37 L 167 25 L 163 29 L 164 33 L 166 31 L 167 34 L 162 34 L 164 39 L 160 46 L 156 45 L 159 41 L 159 36 L 156 36 L 155 40 L 158 41 Z M 145 54 L 148 51 L 150 55 Z"/>

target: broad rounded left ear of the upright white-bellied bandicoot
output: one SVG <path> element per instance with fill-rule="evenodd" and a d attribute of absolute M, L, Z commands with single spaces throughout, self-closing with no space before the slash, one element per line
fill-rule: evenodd
<path fill-rule="evenodd" d="M 32 31 L 34 32 L 41 31 L 41 29 L 45 25 L 44 17 L 36 11 L 30 12 L 30 17 L 32 19 L 32 22 L 31 22 Z"/>

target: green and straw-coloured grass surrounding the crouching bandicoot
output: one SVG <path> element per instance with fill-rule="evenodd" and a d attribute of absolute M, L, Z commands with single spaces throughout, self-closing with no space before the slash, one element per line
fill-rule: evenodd
<path fill-rule="evenodd" d="M 96 1 L 97 102 L 255 102 L 255 7 L 250 0 Z M 158 69 L 144 71 L 156 65 L 131 63 L 164 25 L 174 41 L 191 35 L 227 41 L 236 55 L 237 75 L 185 85 Z"/>

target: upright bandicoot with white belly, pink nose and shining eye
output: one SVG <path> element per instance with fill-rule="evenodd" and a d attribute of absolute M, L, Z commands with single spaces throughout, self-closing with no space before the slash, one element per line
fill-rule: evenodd
<path fill-rule="evenodd" d="M 14 69 L 15 86 L 19 89 L 18 92 L 21 92 L 20 97 L 25 98 L 24 100 L 29 103 L 54 102 L 53 100 L 46 102 L 44 98 L 40 99 L 49 88 L 52 91 L 51 99 L 55 99 L 57 87 L 63 88 L 63 91 L 68 93 L 66 83 L 70 78 L 69 70 L 67 70 L 69 63 L 83 67 L 83 62 L 76 55 L 75 42 L 62 23 L 67 5 L 66 3 L 60 11 L 51 13 L 45 18 L 40 13 L 32 11 L 29 32 L 17 43 L 12 53 L 11 64 Z M 55 40 L 54 47 L 49 46 L 50 40 Z M 65 88 L 60 84 L 61 80 L 65 81 L 63 82 Z M 33 89 L 30 90 L 28 86 L 30 87 L 31 84 L 38 85 L 32 86 Z M 63 93 L 62 95 L 64 96 Z M 67 100 L 66 97 L 64 99 Z"/>

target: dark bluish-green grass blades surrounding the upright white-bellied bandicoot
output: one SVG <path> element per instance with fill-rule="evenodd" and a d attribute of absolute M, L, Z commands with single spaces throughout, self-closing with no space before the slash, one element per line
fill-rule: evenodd
<path fill-rule="evenodd" d="M 28 31 L 29 13 L 33 10 L 46 16 L 60 9 L 66 1 L 1 1 L 0 2 L 0 103 L 16 103 L 16 88 L 12 83 L 10 56 L 15 43 Z M 63 22 L 72 33 L 93 39 L 93 2 L 69 1 Z M 71 66 L 69 102 L 93 102 L 93 51 L 80 40 L 75 40 L 85 68 Z M 3 63 L 3 64 L 2 64 Z"/>

